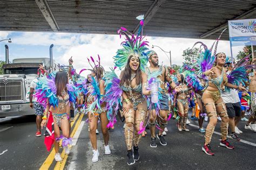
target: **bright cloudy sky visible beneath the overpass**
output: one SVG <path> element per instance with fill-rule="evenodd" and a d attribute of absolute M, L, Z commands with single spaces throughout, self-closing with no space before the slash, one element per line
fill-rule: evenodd
<path fill-rule="evenodd" d="M 72 57 L 74 66 L 77 70 L 89 68 L 87 57 L 101 57 L 102 65 L 107 70 L 113 66 L 112 56 L 120 48 L 120 39 L 118 35 L 103 35 L 103 34 L 75 34 L 75 33 L 45 33 L 45 32 L 9 32 L 0 31 L 0 40 L 11 38 L 12 42 L 0 42 L 0 60 L 5 60 L 5 47 L 9 46 L 9 60 L 16 58 L 49 58 L 49 47 L 53 47 L 53 59 L 60 65 L 68 65 L 68 59 Z M 192 47 L 197 41 L 203 41 L 208 47 L 213 43 L 213 40 L 200 39 L 185 39 L 185 38 L 162 38 L 162 37 L 147 37 L 152 45 L 157 45 L 165 51 L 170 51 L 172 54 L 172 64 L 181 65 L 183 60 L 183 50 Z M 235 56 L 242 47 L 233 49 Z M 170 65 L 169 54 L 165 54 L 159 48 L 155 47 L 154 51 L 158 53 L 159 63 Z M 230 42 L 220 41 L 217 52 L 225 52 L 228 56 L 231 54 Z"/>

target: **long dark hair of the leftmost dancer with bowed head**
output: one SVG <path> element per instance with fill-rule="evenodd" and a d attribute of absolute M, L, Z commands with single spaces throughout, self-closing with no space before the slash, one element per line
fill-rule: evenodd
<path fill-rule="evenodd" d="M 57 72 L 55 76 L 55 86 L 58 96 L 62 96 L 63 90 L 67 91 L 66 84 L 68 84 L 68 74 L 65 71 Z"/>

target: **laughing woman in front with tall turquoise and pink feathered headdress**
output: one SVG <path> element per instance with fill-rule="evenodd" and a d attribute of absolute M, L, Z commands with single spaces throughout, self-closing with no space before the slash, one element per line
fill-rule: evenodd
<path fill-rule="evenodd" d="M 144 95 L 150 95 L 150 90 L 146 90 L 147 75 L 143 72 L 147 63 L 146 52 L 148 50 L 146 47 L 147 41 L 144 41 L 142 36 L 143 16 L 139 16 L 137 19 L 140 20 L 140 29 L 137 36 L 134 36 L 123 27 L 118 31 L 120 36 L 124 34 L 126 38 L 122 42 L 123 48 L 118 49 L 116 56 L 113 57 L 115 67 L 124 68 L 120 74 L 120 80 L 113 73 L 113 70 L 107 73 L 111 74 L 111 76 L 105 76 L 106 81 L 109 82 L 107 84 L 114 84 L 114 86 L 107 85 L 109 87 L 106 89 L 107 102 L 116 103 L 118 106 L 120 95 L 123 97 L 124 135 L 128 165 L 134 164 L 134 160 L 139 160 L 138 144 L 147 123 L 147 102 Z M 109 77 L 112 77 L 112 80 Z"/>

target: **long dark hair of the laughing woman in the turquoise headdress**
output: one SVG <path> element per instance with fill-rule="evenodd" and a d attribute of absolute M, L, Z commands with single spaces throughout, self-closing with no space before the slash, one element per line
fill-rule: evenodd
<path fill-rule="evenodd" d="M 131 74 L 132 74 L 132 69 L 130 67 L 130 60 L 132 58 L 133 55 L 131 55 L 127 61 L 127 64 L 124 68 L 124 75 L 121 79 L 121 86 L 124 85 L 124 84 L 130 84 L 131 83 Z M 136 70 L 136 84 L 140 84 L 142 82 L 142 70 L 140 69 L 140 60 L 139 60 L 139 67 L 138 69 Z"/>

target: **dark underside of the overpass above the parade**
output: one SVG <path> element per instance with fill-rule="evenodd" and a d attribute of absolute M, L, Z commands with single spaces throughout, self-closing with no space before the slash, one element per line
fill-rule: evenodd
<path fill-rule="evenodd" d="M 256 18 L 256 1 L 82 1 L 0 2 L 0 30 L 117 34 L 120 26 L 157 37 L 215 39 L 232 19 Z M 222 39 L 228 40 L 228 31 Z"/>

